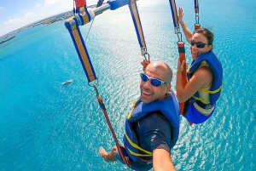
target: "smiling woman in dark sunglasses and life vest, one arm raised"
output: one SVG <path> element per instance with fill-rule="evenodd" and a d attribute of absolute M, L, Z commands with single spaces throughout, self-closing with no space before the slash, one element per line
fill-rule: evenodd
<path fill-rule="evenodd" d="M 220 96 L 223 71 L 218 57 L 212 52 L 213 34 L 206 28 L 195 30 L 194 34 L 183 22 L 183 9 L 178 9 L 178 20 L 190 44 L 192 63 L 187 71 L 188 83 L 181 83 L 185 61 L 177 63 L 176 91 L 180 103 L 185 102 L 183 117 L 189 123 L 207 121 L 215 110 Z"/>

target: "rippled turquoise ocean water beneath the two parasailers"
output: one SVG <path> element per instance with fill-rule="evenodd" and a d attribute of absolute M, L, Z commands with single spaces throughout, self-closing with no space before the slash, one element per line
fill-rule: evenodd
<path fill-rule="evenodd" d="M 169 64 L 175 80 L 177 36 L 169 1 L 137 4 L 150 59 Z M 223 91 L 206 123 L 189 126 L 180 117 L 172 159 L 180 171 L 253 171 L 256 1 L 199 4 L 201 26 L 215 34 L 214 52 L 224 67 Z M 183 7 L 183 20 L 193 30 L 194 1 L 177 0 L 176 5 Z M 98 154 L 100 146 L 110 151 L 115 142 L 64 22 L 32 27 L 0 45 L 0 170 L 130 170 L 120 162 L 104 162 Z M 121 144 L 125 117 L 140 94 L 143 56 L 128 6 L 108 10 L 90 25 L 80 26 L 80 31 Z M 191 62 L 188 43 L 186 53 Z M 62 85 L 67 79 L 73 83 Z"/>

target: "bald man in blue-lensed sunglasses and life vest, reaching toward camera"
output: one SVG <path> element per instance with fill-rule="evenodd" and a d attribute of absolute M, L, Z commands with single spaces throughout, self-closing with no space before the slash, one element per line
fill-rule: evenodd
<path fill-rule="evenodd" d="M 134 170 L 175 170 L 171 148 L 177 142 L 179 109 L 176 95 L 170 91 L 172 70 L 163 62 L 151 62 L 141 79 L 141 98 L 125 122 L 125 146 L 121 151 L 113 146 L 110 152 L 100 147 L 99 153 L 106 162 L 119 159 L 125 163 L 121 152 Z"/>

